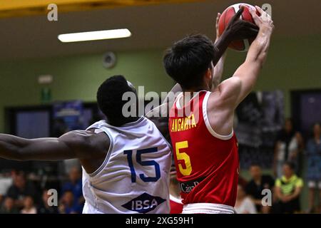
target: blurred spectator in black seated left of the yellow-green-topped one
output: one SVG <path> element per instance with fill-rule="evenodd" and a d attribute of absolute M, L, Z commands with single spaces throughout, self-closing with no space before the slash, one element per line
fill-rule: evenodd
<path fill-rule="evenodd" d="M 245 192 L 253 199 L 258 212 L 268 214 L 270 212 L 269 206 L 262 205 L 262 191 L 269 189 L 272 191 L 275 180 L 270 175 L 262 175 L 260 165 L 252 164 L 250 166 L 250 175 L 252 179 L 245 187 Z"/>

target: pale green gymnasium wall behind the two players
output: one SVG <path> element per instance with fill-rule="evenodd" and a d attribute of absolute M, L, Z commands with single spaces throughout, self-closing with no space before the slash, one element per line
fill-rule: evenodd
<path fill-rule="evenodd" d="M 290 90 L 321 88 L 320 38 L 283 37 L 272 40 L 255 89 L 281 89 L 285 93 L 287 116 L 290 116 Z M 111 70 L 103 68 L 102 53 L 0 61 L 0 132 L 4 132 L 4 107 L 41 103 L 43 86 L 39 85 L 37 78 L 42 74 L 54 76 L 54 82 L 49 86 L 52 100 L 93 101 L 99 84 L 114 74 L 125 75 L 135 86 L 146 86 L 146 91 L 167 91 L 173 85 L 163 70 L 163 49 L 116 52 L 118 63 Z M 233 74 L 244 58 L 245 53 L 229 51 L 224 75 Z"/>

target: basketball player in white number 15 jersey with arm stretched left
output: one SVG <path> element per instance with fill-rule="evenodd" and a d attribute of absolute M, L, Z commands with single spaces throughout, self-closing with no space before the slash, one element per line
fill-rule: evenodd
<path fill-rule="evenodd" d="M 11 160 L 78 158 L 83 167 L 83 213 L 169 213 L 170 146 L 151 121 L 125 118 L 123 93 L 136 90 L 123 76 L 98 88 L 107 120 L 60 138 L 0 134 L 0 157 Z M 36 128 L 36 126 L 35 126 Z"/>

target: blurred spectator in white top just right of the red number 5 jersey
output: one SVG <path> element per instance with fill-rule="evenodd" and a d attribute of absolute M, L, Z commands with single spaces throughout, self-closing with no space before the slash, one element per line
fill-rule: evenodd
<path fill-rule="evenodd" d="M 243 187 L 238 185 L 238 195 L 235 202 L 235 211 L 238 214 L 256 214 L 255 204 L 250 197 L 245 194 Z"/>

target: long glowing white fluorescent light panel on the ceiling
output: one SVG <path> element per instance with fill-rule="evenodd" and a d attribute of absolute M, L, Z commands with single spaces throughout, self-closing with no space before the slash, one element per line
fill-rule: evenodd
<path fill-rule="evenodd" d="M 111 38 L 126 38 L 131 36 L 131 31 L 127 28 L 103 30 L 103 31 L 86 31 L 83 33 L 66 33 L 58 36 L 58 40 L 63 43 L 78 41 L 98 41 Z"/>

